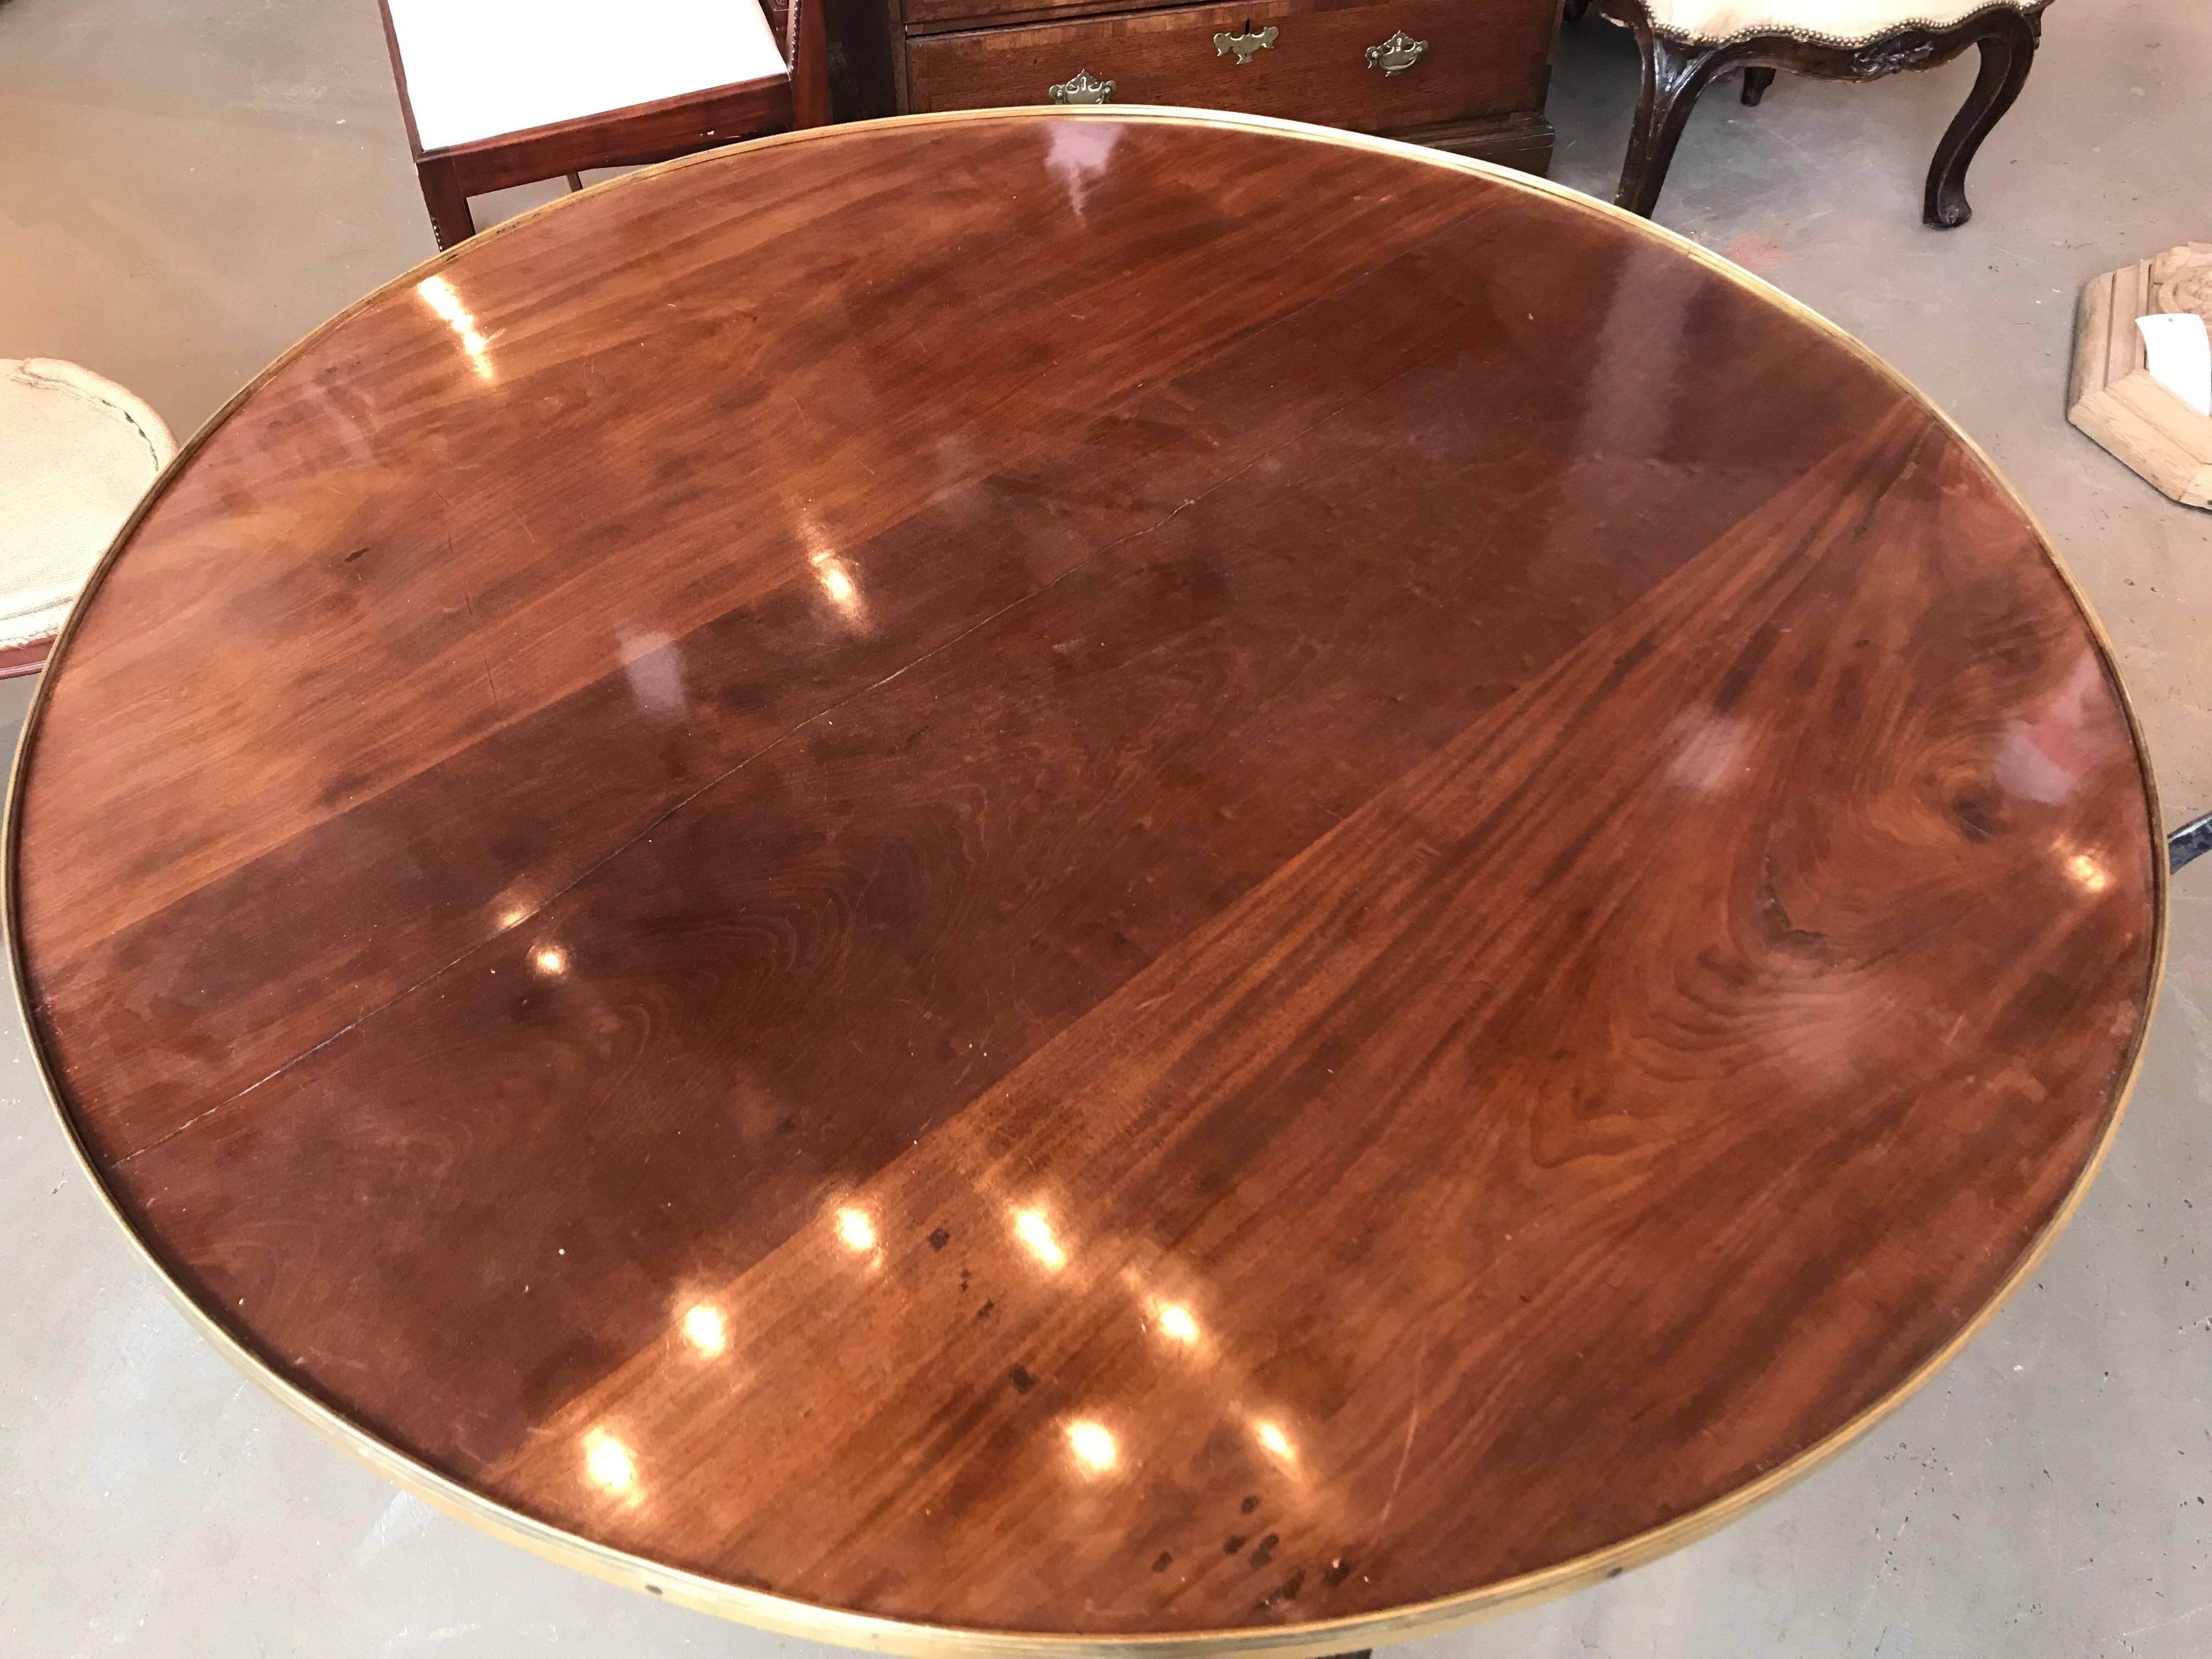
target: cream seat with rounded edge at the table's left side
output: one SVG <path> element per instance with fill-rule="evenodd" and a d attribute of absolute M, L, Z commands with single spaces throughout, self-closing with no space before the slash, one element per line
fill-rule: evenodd
<path fill-rule="evenodd" d="M 144 403 L 55 358 L 0 358 L 0 648 L 51 639 L 177 453 Z"/>

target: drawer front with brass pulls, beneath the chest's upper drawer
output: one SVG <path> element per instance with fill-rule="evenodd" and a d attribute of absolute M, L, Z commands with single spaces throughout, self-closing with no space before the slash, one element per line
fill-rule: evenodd
<path fill-rule="evenodd" d="M 1259 0 L 916 35 L 907 66 L 916 111 L 1194 104 L 1396 133 L 1535 108 L 1555 18 L 1553 0 Z"/>

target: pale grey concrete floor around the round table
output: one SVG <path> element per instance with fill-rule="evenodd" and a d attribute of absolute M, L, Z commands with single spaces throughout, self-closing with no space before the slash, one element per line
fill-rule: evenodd
<path fill-rule="evenodd" d="M 1661 219 L 1860 334 L 1975 434 L 2099 606 L 2168 821 L 2212 805 L 2212 515 L 2062 420 L 2073 299 L 2212 237 L 2212 11 L 2055 7 L 1973 179 L 1918 223 L 1971 69 L 1723 88 Z M 1557 177 L 1608 192 L 1635 58 L 1559 53 Z M 478 204 L 482 223 L 549 190 Z M 0 0 L 0 352 L 115 376 L 181 431 L 431 250 L 369 0 Z M 27 681 L 0 686 L 0 739 Z M 2037 1283 L 1931 1387 L 1743 1524 L 1409 1659 L 2181 1659 L 2212 1652 L 2212 860 L 2110 1164 Z M 0 1031 L 0 1655 L 765 1655 L 396 1495 L 155 1292 Z M 818 1650 L 830 1655 L 832 1650 Z"/>

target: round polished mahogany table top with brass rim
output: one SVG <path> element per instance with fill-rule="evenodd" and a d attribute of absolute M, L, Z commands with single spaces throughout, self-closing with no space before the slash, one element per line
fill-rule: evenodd
<path fill-rule="evenodd" d="M 679 161 L 195 440 L 24 739 L 97 1183 L 418 1491 L 907 1650 L 1321 1652 L 1840 1447 L 2020 1279 L 2163 936 L 1989 462 L 1391 144 Z"/>

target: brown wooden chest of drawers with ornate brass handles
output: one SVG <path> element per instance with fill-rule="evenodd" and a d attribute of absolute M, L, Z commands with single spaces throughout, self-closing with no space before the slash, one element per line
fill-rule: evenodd
<path fill-rule="evenodd" d="M 1544 173 L 1559 0 L 830 0 L 854 115 L 1197 104 Z"/>

